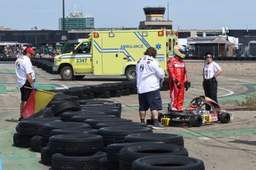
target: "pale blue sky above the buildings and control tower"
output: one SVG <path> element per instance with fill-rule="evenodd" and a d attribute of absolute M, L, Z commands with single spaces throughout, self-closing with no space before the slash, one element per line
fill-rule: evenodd
<path fill-rule="evenodd" d="M 59 30 L 62 0 L 0 0 L 0 27 Z M 143 7 L 165 7 L 164 20 L 174 30 L 256 30 L 254 0 L 65 0 L 65 16 L 81 11 L 94 17 L 95 28 L 139 27 Z"/>

